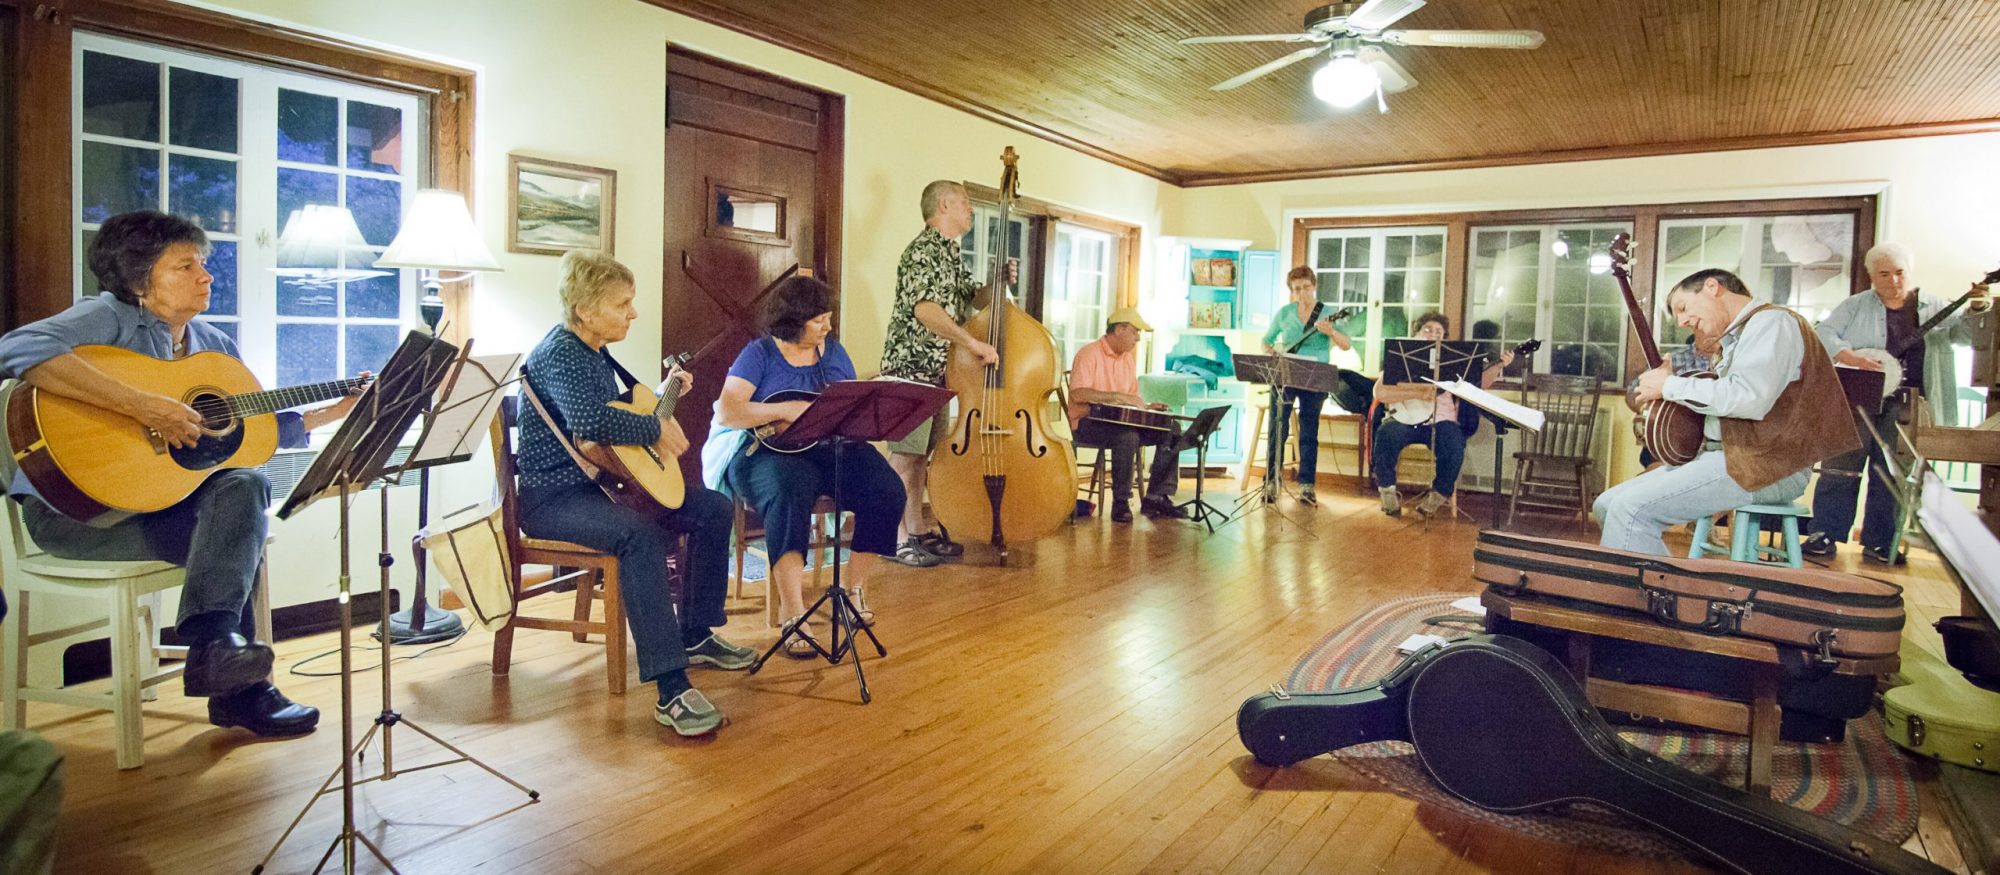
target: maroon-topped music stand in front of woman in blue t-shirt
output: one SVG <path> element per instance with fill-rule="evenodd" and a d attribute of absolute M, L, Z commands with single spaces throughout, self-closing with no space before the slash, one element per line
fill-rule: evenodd
<path fill-rule="evenodd" d="M 888 649 L 882 647 L 882 639 L 874 633 L 874 623 L 862 623 L 860 611 L 854 609 L 854 599 L 848 597 L 848 589 L 840 583 L 840 513 L 846 511 L 846 503 L 840 499 L 840 455 L 850 443 L 868 441 L 896 441 L 916 432 L 916 426 L 938 416 L 946 404 L 952 402 L 954 392 L 940 390 L 928 384 L 912 384 L 904 380 L 842 380 L 826 384 L 806 412 L 792 420 L 792 426 L 776 438 L 768 438 L 766 443 L 792 449 L 808 447 L 812 443 L 826 441 L 834 447 L 834 581 L 826 585 L 826 591 L 806 607 L 806 613 L 778 635 L 778 641 L 770 645 L 750 665 L 750 673 L 758 673 L 766 661 L 778 649 L 784 647 L 794 635 L 812 645 L 812 651 L 826 657 L 828 665 L 840 665 L 842 659 L 854 655 L 854 679 L 862 689 L 862 703 L 874 701 L 868 693 L 868 675 L 862 673 L 862 651 L 856 645 L 858 635 L 868 635 L 868 643 L 874 645 L 876 657 L 886 657 Z M 868 447 L 866 451 L 874 451 Z M 776 563 L 778 557 L 772 557 Z M 806 619 L 812 619 L 820 611 L 820 605 L 832 605 L 828 611 L 826 645 L 822 647 L 812 633 L 806 631 Z M 856 633 L 856 629 L 860 629 Z"/>

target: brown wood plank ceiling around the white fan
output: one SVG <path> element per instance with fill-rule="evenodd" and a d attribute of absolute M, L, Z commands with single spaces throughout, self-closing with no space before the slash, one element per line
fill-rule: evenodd
<path fill-rule="evenodd" d="M 1532 28 L 1538 50 L 1386 46 L 1418 82 L 1312 98 L 1310 0 L 646 0 L 1182 186 L 2000 130 L 1992 0 L 1430 0 L 1398 28 Z"/>

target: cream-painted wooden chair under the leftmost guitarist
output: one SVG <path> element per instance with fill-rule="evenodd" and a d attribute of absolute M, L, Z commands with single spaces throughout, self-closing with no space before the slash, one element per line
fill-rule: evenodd
<path fill-rule="evenodd" d="M 164 681 L 180 677 L 184 663 L 160 667 L 160 657 L 186 659 L 188 647 L 160 643 L 160 593 L 186 583 L 186 569 L 174 563 L 58 559 L 28 541 L 20 507 L 10 499 L 6 521 L 12 549 L 0 571 L 0 587 L 12 607 L 0 623 L 4 637 L 4 679 L 0 679 L 0 725 L 20 729 L 28 723 L 28 701 L 92 707 L 112 713 L 116 759 L 120 769 L 146 765 L 146 733 L 140 701 L 158 697 Z M 270 543 L 266 539 L 266 543 Z M 42 595 L 100 599 L 104 619 L 90 619 L 64 629 L 34 631 L 32 607 Z M 270 577 L 258 565 L 254 595 L 256 637 L 270 641 Z M 100 631 L 106 629 L 106 631 Z M 108 691 L 80 691 L 28 683 L 28 651 L 46 643 L 74 643 L 108 637 L 112 645 L 112 677 Z"/>

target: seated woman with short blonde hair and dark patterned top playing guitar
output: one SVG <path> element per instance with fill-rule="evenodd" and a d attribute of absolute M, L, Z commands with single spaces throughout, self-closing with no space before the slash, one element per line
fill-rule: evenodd
<path fill-rule="evenodd" d="M 548 408 L 568 439 L 610 445 L 656 445 L 680 455 L 688 438 L 672 420 L 628 414 L 606 404 L 620 396 L 606 344 L 626 338 L 632 308 L 632 270 L 602 252 L 562 256 L 562 324 L 552 328 L 522 366 L 528 386 Z M 688 392 L 682 382 L 680 392 Z M 688 681 L 690 663 L 746 669 L 756 651 L 714 633 L 728 617 L 730 499 L 688 483 L 680 509 L 646 515 L 612 503 L 550 434 L 550 424 L 530 406 L 520 418 L 520 529 L 532 537 L 582 543 L 618 557 L 618 595 L 632 641 L 638 675 L 660 687 L 654 719 L 680 735 L 704 735 L 722 725 L 716 709 Z M 676 533 L 688 535 L 686 613 L 674 611 L 666 587 L 666 555 Z"/>

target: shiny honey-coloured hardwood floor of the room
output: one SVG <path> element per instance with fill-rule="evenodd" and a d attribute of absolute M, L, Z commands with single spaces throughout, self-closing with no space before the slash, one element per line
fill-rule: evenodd
<path fill-rule="evenodd" d="M 594 643 L 522 633 L 512 675 L 494 677 L 492 635 L 474 631 L 398 661 L 396 705 L 542 799 L 452 765 L 364 785 L 356 823 L 404 873 L 1696 871 L 1468 821 L 1330 757 L 1256 765 L 1236 739 L 1236 705 L 1382 599 L 1472 591 L 1478 531 L 1388 519 L 1344 489 L 1318 509 L 1280 507 L 1284 517 L 1258 511 L 1214 535 L 1082 521 L 1042 541 L 1026 569 L 892 567 L 868 593 L 890 649 L 866 663 L 872 705 L 848 665 L 696 669 L 730 715 L 708 739 L 656 725 L 636 677 L 628 695 L 606 695 Z M 1480 505 L 1468 495 L 1466 507 Z M 1910 577 L 1912 625 L 1916 603 L 1956 605 L 1934 567 Z M 538 609 L 566 611 L 568 597 Z M 772 639 L 756 597 L 730 609 L 732 639 Z M 332 645 L 286 641 L 280 669 Z M 356 655 L 358 667 L 374 661 L 374 649 Z M 338 707 L 332 679 L 282 685 Z M 360 733 L 380 709 L 380 677 L 354 687 Z M 336 713 L 292 741 L 204 717 L 202 701 L 162 691 L 146 767 L 116 771 L 108 715 L 30 707 L 30 725 L 68 753 L 58 871 L 248 871 L 340 763 Z M 380 755 L 372 747 L 360 771 Z M 440 759 L 406 727 L 394 757 L 404 769 Z M 312 869 L 338 825 L 332 795 L 270 871 Z M 1944 835 L 1926 809 L 1910 847 L 1958 865 Z M 362 863 L 380 871 L 366 853 Z"/>

